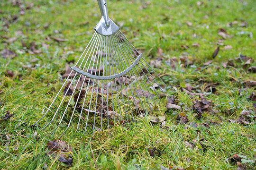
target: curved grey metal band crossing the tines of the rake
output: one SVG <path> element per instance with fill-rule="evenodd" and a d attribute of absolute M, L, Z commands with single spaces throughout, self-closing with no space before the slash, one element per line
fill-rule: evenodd
<path fill-rule="evenodd" d="M 82 71 L 79 68 L 76 67 L 72 67 L 71 69 L 73 69 L 74 71 L 82 74 L 83 76 L 88 76 L 94 79 L 99 79 L 99 80 L 109 80 L 109 79 L 114 79 L 117 78 L 119 76 L 123 76 L 124 74 L 126 74 L 128 71 L 130 71 L 132 68 L 134 68 L 134 66 L 137 64 L 137 62 L 139 61 L 139 59 L 142 57 L 142 54 L 139 54 L 139 56 L 137 57 L 137 59 L 134 61 L 134 63 L 132 63 L 132 65 L 130 67 L 128 67 L 127 69 L 125 69 L 123 72 L 116 74 L 116 75 L 112 75 L 112 76 L 96 76 L 96 75 L 92 75 L 90 73 L 86 73 L 84 71 Z"/>

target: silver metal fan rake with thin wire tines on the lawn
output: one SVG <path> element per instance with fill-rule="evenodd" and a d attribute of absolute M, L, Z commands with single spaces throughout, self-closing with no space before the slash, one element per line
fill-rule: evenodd
<path fill-rule="evenodd" d="M 34 124 L 44 118 L 41 129 L 52 134 L 58 127 L 65 129 L 61 136 L 69 127 L 93 133 L 160 109 L 165 83 L 109 18 L 106 0 L 98 4 L 102 17 L 91 41 Z"/>

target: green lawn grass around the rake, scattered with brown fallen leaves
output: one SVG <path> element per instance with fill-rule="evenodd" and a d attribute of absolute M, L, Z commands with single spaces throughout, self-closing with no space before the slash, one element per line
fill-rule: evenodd
<path fill-rule="evenodd" d="M 234 154 L 255 159 L 255 123 L 245 126 L 229 121 L 238 119 L 242 110 L 252 110 L 255 115 L 255 102 L 247 98 L 255 92 L 255 87 L 245 85 L 247 81 L 256 81 L 255 73 L 247 72 L 248 67 L 256 66 L 254 0 L 202 0 L 202 4 L 197 0 L 108 1 L 110 18 L 144 52 L 146 60 L 163 59 L 161 67 L 155 71 L 167 84 L 166 93 L 177 99 L 182 110 L 163 113 L 166 127 L 169 127 L 166 129 L 137 117 L 136 123 L 96 131 L 91 138 L 82 132 L 74 133 L 76 127 L 72 125 L 61 138 L 73 147 L 73 152 L 69 153 L 73 158 L 70 167 L 46 154 L 46 139 L 53 140 L 61 132 L 50 136 L 51 127 L 41 132 L 32 125 L 52 101 L 54 89 L 63 84 L 61 75 L 65 63 L 77 59 L 89 42 L 92 28 L 100 19 L 100 10 L 96 0 L 20 2 L 23 6 L 13 5 L 11 1 L 0 4 L 0 51 L 9 49 L 17 54 L 12 59 L 0 56 L 0 115 L 7 110 L 14 114 L 0 122 L 0 169 L 146 170 L 161 169 L 160 165 L 165 168 L 192 165 L 195 169 L 228 170 L 237 168 L 236 164 L 226 161 Z M 28 8 L 30 3 L 34 6 L 20 15 L 20 9 Z M 233 25 L 229 26 L 231 22 Z M 246 26 L 241 26 L 243 24 Z M 226 39 L 218 35 L 219 28 L 227 31 Z M 68 41 L 56 42 L 49 38 L 51 36 Z M 11 37 L 17 40 L 7 42 Z M 27 46 L 35 42 L 42 52 L 29 53 L 21 41 Z M 195 42 L 200 46 L 192 46 Z M 232 49 L 225 50 L 227 45 Z M 212 59 L 218 46 L 220 51 Z M 157 52 L 159 49 L 163 54 Z M 237 60 L 239 54 L 254 61 L 243 67 L 246 61 Z M 185 66 L 184 56 L 193 62 L 192 66 Z M 169 64 L 174 57 L 177 64 L 172 68 Z M 37 60 L 32 62 L 33 59 Z M 209 60 L 213 62 L 204 66 L 203 63 Z M 223 67 L 222 64 L 229 60 L 234 66 Z M 6 70 L 13 71 L 14 76 L 6 76 Z M 212 100 L 210 109 L 214 111 L 206 111 L 200 120 L 196 119 L 191 105 L 199 97 L 184 93 L 181 87 L 185 84 L 191 84 L 196 93 L 207 93 L 206 99 Z M 207 87 L 212 84 L 215 93 Z M 199 126 L 178 124 L 176 117 L 181 113 L 190 123 Z M 210 128 L 202 125 L 210 121 L 219 123 Z M 33 136 L 35 131 L 39 139 Z M 187 147 L 184 141 L 193 142 L 194 148 Z M 151 156 L 148 149 L 154 147 L 157 151 Z M 254 168 L 248 163 L 247 169 Z"/>

